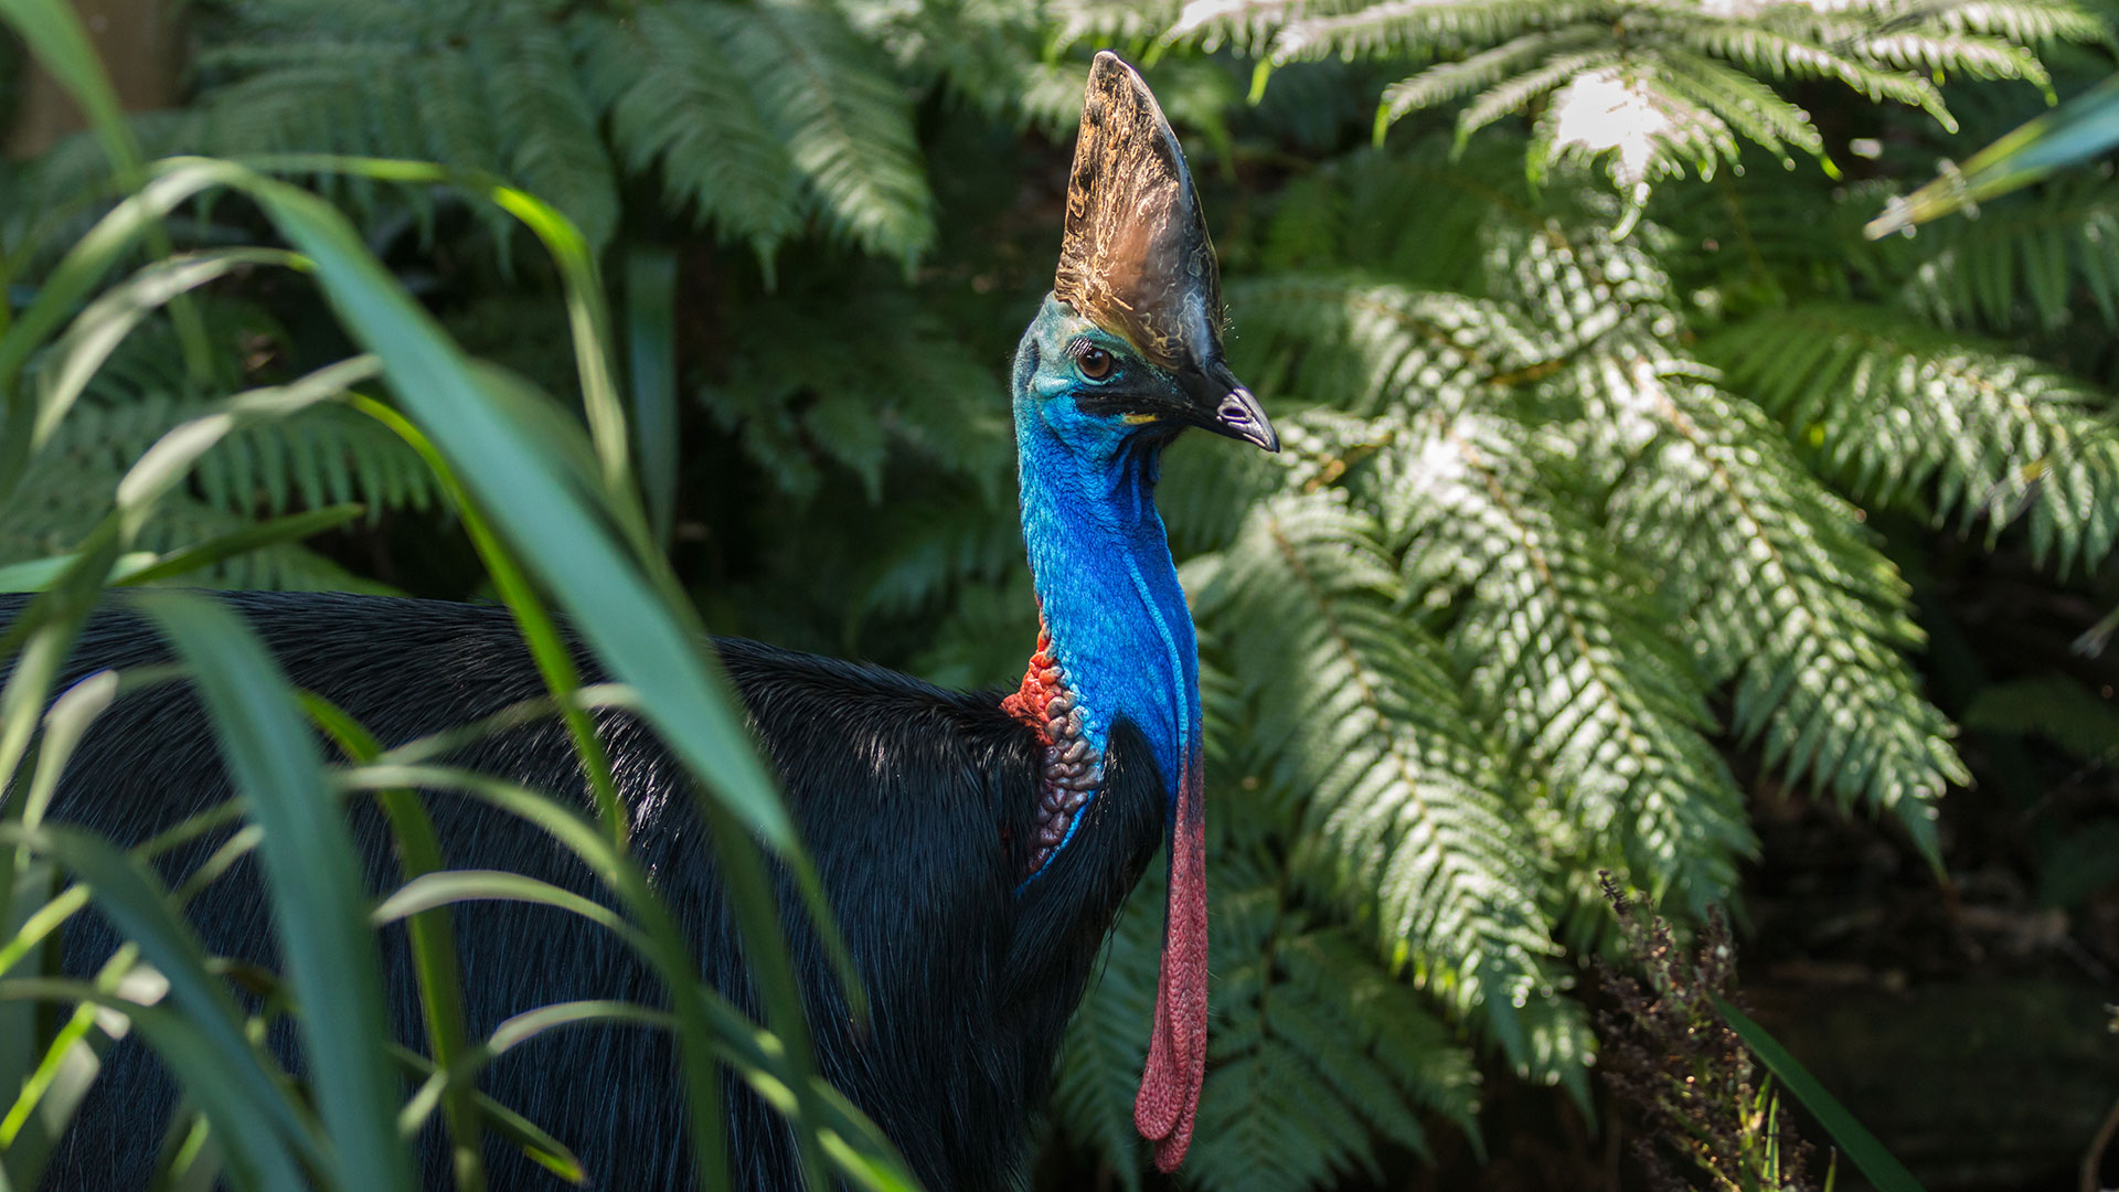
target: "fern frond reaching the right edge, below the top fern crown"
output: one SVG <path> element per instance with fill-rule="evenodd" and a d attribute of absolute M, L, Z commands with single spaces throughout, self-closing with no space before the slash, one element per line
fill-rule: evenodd
<path fill-rule="evenodd" d="M 2111 399 L 2028 356 L 1888 310 L 1808 303 L 1706 344 L 1850 492 L 1990 539 L 2028 515 L 2032 556 L 2096 566 L 2119 537 Z"/>

